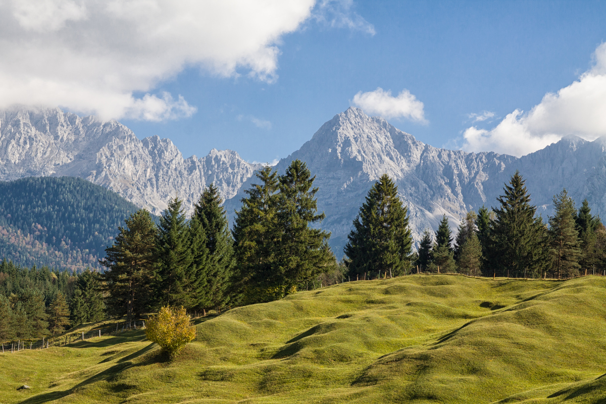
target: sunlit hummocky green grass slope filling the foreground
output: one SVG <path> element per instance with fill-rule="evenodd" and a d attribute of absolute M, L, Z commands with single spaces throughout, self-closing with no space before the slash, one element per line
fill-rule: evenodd
<path fill-rule="evenodd" d="M 141 331 L 0 355 L 0 403 L 606 402 L 605 303 L 602 277 L 351 282 L 207 318 L 175 362 Z"/>

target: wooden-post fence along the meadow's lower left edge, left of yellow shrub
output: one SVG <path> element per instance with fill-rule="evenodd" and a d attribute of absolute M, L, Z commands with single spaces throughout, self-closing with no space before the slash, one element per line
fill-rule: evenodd
<path fill-rule="evenodd" d="M 42 337 L 35 339 L 15 339 L 0 342 L 2 353 L 15 353 L 24 349 L 47 349 L 53 346 L 65 346 L 78 341 L 85 341 L 95 337 L 109 336 L 123 333 L 131 329 L 145 328 L 144 320 L 133 320 L 130 323 L 116 323 L 116 325 L 95 328 L 89 331 L 79 331 L 64 334 L 58 337 Z"/>

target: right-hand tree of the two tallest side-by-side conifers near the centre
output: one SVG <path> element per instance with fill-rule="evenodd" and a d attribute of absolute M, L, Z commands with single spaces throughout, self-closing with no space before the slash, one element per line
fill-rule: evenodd
<path fill-rule="evenodd" d="M 279 239 L 273 265 L 278 286 L 276 298 L 291 293 L 298 283 L 314 279 L 336 266 L 335 255 L 328 247 L 330 233 L 310 227 L 325 217 L 324 213 L 317 214 L 315 179 L 300 160 L 292 161 L 285 174 L 279 176 L 276 201 Z"/>

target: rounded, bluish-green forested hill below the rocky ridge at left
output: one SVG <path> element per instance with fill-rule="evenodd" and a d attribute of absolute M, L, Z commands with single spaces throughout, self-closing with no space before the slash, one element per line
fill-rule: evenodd
<path fill-rule="evenodd" d="M 78 177 L 0 182 L 0 259 L 18 265 L 98 268 L 118 226 L 138 209 Z"/>

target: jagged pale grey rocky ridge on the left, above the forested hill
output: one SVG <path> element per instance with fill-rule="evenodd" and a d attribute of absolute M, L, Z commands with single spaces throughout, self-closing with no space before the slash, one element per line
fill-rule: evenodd
<path fill-rule="evenodd" d="M 154 214 L 176 194 L 190 211 L 211 182 L 229 199 L 259 167 L 231 150 L 185 159 L 169 139 L 140 140 L 119 122 L 80 118 L 59 108 L 0 112 L 0 180 L 82 177 Z"/>

